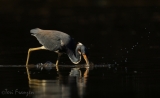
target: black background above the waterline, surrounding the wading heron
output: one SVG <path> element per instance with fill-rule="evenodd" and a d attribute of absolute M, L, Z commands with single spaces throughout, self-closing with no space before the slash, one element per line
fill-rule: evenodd
<path fill-rule="evenodd" d="M 159 0 L 0 0 L 0 64 L 25 64 L 27 51 L 41 46 L 30 29 L 55 29 L 86 45 L 95 64 L 158 64 Z M 30 63 L 57 54 L 31 53 Z M 83 61 L 84 62 L 84 61 Z M 66 55 L 60 64 L 71 64 Z"/>

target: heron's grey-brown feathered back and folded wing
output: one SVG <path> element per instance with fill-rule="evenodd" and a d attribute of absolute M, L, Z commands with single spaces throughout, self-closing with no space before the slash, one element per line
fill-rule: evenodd
<path fill-rule="evenodd" d="M 72 38 L 61 31 L 32 29 L 30 32 L 48 50 L 64 50 L 64 47 L 72 50 L 74 47 Z"/>

